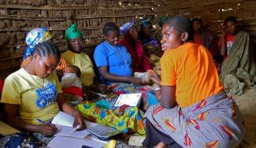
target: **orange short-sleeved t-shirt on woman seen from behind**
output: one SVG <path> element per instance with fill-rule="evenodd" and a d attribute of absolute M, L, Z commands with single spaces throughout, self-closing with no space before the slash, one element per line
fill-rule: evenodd
<path fill-rule="evenodd" d="M 161 57 L 161 85 L 176 86 L 181 108 L 223 91 L 213 57 L 204 46 L 185 43 Z"/>

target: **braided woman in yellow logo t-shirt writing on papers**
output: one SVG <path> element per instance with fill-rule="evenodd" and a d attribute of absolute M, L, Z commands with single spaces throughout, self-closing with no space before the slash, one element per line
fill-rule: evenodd
<path fill-rule="evenodd" d="M 1 102 L 5 103 L 7 123 L 20 131 L 32 132 L 41 142 L 49 142 L 57 128 L 50 120 L 60 110 L 75 117 L 80 129 L 85 128 L 83 117 L 62 97 L 60 83 L 54 69 L 60 61 L 54 43 L 39 43 L 32 52 L 32 60 L 24 68 L 9 75 L 4 83 Z M 42 121 L 43 120 L 43 121 Z"/>

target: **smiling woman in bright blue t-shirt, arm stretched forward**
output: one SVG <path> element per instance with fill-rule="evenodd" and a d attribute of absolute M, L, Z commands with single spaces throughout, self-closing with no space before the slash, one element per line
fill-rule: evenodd
<path fill-rule="evenodd" d="M 105 24 L 103 34 L 106 40 L 96 47 L 94 53 L 95 64 L 102 80 L 108 85 L 114 82 L 142 83 L 142 80 L 133 76 L 130 54 L 125 46 L 117 43 L 120 35 L 116 24 Z"/>

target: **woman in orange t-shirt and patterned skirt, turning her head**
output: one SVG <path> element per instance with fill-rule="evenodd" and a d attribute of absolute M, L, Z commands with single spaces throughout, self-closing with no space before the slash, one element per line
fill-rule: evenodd
<path fill-rule="evenodd" d="M 192 43 L 190 20 L 171 17 L 163 24 L 160 103 L 145 114 L 146 147 L 235 147 L 244 134 L 236 102 L 228 98 L 210 52 Z"/>

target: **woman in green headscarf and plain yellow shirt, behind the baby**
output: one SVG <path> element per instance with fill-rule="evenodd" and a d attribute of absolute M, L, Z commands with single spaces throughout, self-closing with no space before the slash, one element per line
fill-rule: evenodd
<path fill-rule="evenodd" d="M 69 49 L 62 54 L 66 65 L 76 65 L 81 70 L 80 80 L 82 85 L 90 87 L 94 81 L 95 71 L 90 57 L 82 52 L 83 34 L 76 29 L 76 24 L 70 25 L 65 31 L 65 39 L 68 41 Z"/>

